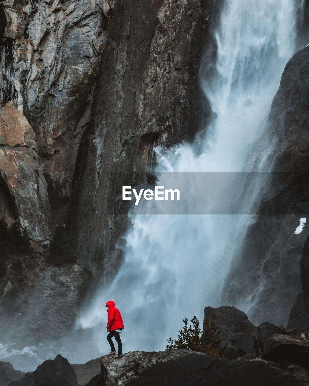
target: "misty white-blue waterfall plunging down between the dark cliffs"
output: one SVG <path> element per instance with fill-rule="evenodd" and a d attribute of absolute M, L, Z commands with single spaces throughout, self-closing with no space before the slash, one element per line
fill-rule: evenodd
<path fill-rule="evenodd" d="M 188 179 L 179 172 L 252 170 L 252 146 L 261 135 L 284 66 L 294 54 L 299 7 L 295 0 L 225 1 L 213 31 L 215 69 L 209 74 L 200 68 L 200 83 L 215 118 L 195 143 L 156 149 L 156 185 L 168 179 L 168 173 L 160 172 L 173 173 L 175 186 L 184 191 L 189 189 Z M 202 149 L 198 153 L 197 147 Z M 265 154 L 269 151 L 265 148 Z M 198 178 L 192 179 L 198 189 Z M 233 191 L 233 184 L 226 178 L 223 189 Z M 233 195 L 226 200 L 224 207 L 234 205 Z M 182 208 L 184 214 L 179 215 L 130 213 L 124 262 L 77 321 L 79 327 L 93 330 L 101 352 L 108 350 L 104 305 L 110 299 L 124 319 L 124 352 L 164 350 L 166 339 L 177 337 L 183 318 L 197 315 L 202 322 L 204 306 L 220 305 L 233 258 L 230 247 L 241 242 L 234 239 L 235 229 L 245 230 L 250 215 L 186 214 L 192 213 L 190 209 Z"/>

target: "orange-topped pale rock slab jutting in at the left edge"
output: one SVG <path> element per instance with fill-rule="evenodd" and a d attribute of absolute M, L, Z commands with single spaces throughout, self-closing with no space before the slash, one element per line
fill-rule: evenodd
<path fill-rule="evenodd" d="M 32 239 L 48 241 L 53 222 L 36 135 L 11 103 L 0 107 L 0 180 L 1 217 L 18 218 Z"/>

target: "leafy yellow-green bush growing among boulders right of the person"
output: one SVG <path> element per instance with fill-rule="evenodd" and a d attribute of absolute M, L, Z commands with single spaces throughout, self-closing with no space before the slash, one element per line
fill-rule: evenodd
<path fill-rule="evenodd" d="M 173 349 L 187 349 L 203 352 L 213 357 L 226 357 L 226 344 L 222 347 L 221 331 L 216 325 L 216 315 L 212 315 L 211 322 L 205 321 L 203 332 L 200 323 L 194 315 L 190 319 L 192 326 L 188 327 L 188 319 L 183 319 L 183 329 L 179 330 L 178 339 L 167 339 L 166 351 Z"/>

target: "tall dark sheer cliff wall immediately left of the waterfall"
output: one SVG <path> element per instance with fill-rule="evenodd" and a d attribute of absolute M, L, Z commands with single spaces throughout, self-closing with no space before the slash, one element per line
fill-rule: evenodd
<path fill-rule="evenodd" d="M 115 3 L 73 181 L 71 224 L 83 262 L 103 261 L 105 272 L 117 269 L 128 210 L 118 199 L 121 186 L 141 182 L 139 172 L 153 165 L 154 146 L 192 139 L 211 114 L 198 73 L 211 40 L 209 20 L 216 20 L 220 4 Z"/>

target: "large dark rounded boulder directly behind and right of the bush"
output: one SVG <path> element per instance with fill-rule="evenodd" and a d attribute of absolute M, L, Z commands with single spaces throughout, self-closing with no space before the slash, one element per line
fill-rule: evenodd
<path fill-rule="evenodd" d="M 204 323 L 206 319 L 210 321 L 212 315 L 217 317 L 216 324 L 221 330 L 223 344 L 228 344 L 228 359 L 236 359 L 246 353 L 258 356 L 259 331 L 244 312 L 231 306 L 205 307 Z"/>

